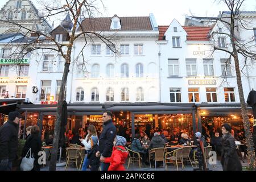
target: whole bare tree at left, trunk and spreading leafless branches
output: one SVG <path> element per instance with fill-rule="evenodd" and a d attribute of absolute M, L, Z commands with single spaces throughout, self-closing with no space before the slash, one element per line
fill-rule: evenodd
<path fill-rule="evenodd" d="M 57 42 L 53 36 L 49 35 L 45 31 L 37 31 L 33 28 L 29 28 L 23 26 L 23 24 L 19 23 L 17 20 L 12 20 L 9 17 L 5 17 L 5 19 L 1 19 L 1 22 L 9 23 L 15 27 L 18 27 L 19 31 L 25 32 L 24 36 L 20 39 L 12 40 L 9 44 L 15 44 L 16 50 L 18 52 L 16 57 L 19 59 L 23 59 L 28 53 L 36 53 L 38 50 L 44 51 L 52 51 L 56 54 L 59 54 L 61 57 L 65 59 L 64 72 L 61 80 L 59 99 L 57 102 L 57 112 L 56 112 L 56 122 L 54 129 L 54 137 L 53 137 L 53 149 L 51 152 L 51 162 L 49 166 L 50 171 L 56 170 L 56 162 L 57 162 L 57 150 L 59 148 L 59 139 L 60 139 L 60 124 L 61 124 L 61 110 L 63 107 L 64 101 L 64 92 L 65 85 L 67 84 L 67 77 L 69 73 L 69 66 L 71 63 L 75 63 L 75 61 L 79 58 L 82 60 L 82 70 L 86 70 L 86 55 L 84 55 L 84 48 L 88 46 L 90 42 L 93 40 L 100 40 L 105 43 L 106 46 L 110 48 L 110 50 L 114 53 L 117 53 L 117 48 L 115 44 L 112 42 L 113 35 L 104 35 L 104 32 L 97 31 L 85 31 L 82 26 L 82 15 L 85 15 L 87 18 L 93 18 L 95 13 L 100 13 L 96 3 L 101 2 L 101 0 L 65 0 L 63 3 L 56 3 L 54 0 L 49 0 L 47 3 L 43 3 L 44 12 L 46 13 L 42 16 L 42 22 L 56 17 L 63 17 L 63 14 L 70 14 L 72 21 L 72 29 L 69 31 L 69 39 L 65 43 Z M 103 4 L 102 4 L 103 5 Z M 80 27 L 81 30 L 77 31 L 77 28 Z M 93 26 L 92 26 L 93 27 Z M 17 34 L 18 35 L 18 34 Z M 34 35 L 33 37 L 28 37 L 30 35 Z M 75 58 L 71 58 L 72 48 L 76 39 L 82 39 L 84 41 L 84 47 L 81 48 L 79 55 Z M 55 61 L 52 62 L 55 64 Z"/>

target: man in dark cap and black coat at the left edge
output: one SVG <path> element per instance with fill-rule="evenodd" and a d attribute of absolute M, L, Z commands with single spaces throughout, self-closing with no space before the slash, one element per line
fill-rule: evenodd
<path fill-rule="evenodd" d="M 9 113 L 9 120 L 0 128 L 0 171 L 10 171 L 18 151 L 19 112 Z"/>

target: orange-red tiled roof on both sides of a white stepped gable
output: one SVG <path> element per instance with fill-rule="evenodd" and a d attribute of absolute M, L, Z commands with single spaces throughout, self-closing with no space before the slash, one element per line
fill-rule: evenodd
<path fill-rule="evenodd" d="M 158 26 L 159 38 L 158 40 L 164 40 L 164 34 L 169 26 Z M 191 41 L 207 41 L 209 40 L 208 35 L 213 27 L 187 27 L 182 26 L 187 32 L 187 40 Z"/>

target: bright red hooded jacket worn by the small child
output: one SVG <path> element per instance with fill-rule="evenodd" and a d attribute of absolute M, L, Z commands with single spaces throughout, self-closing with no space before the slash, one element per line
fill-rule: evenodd
<path fill-rule="evenodd" d="M 128 151 L 123 146 L 114 146 L 110 158 L 105 158 L 105 163 L 110 163 L 108 171 L 125 171 L 125 161 Z"/>

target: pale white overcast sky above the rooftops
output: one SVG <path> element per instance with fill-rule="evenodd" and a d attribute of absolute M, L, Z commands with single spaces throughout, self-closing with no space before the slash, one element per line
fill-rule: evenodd
<path fill-rule="evenodd" d="M 49 0 L 48 0 L 49 1 Z M 153 13 L 158 25 L 169 25 L 177 19 L 184 24 L 185 15 L 217 16 L 219 11 L 227 11 L 224 4 L 216 0 L 101 0 L 105 10 L 102 16 L 149 16 Z M 0 1 L 2 8 L 7 0 Z M 32 0 L 38 7 L 38 0 Z M 256 0 L 245 0 L 243 11 L 256 11 Z"/>

